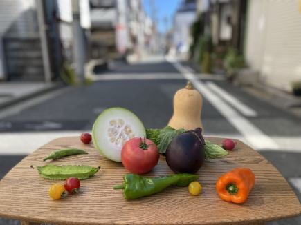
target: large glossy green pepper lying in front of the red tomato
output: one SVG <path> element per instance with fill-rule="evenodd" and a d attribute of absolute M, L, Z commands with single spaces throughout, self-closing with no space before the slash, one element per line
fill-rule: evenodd
<path fill-rule="evenodd" d="M 161 177 L 143 177 L 129 173 L 123 176 L 123 184 L 114 186 L 114 189 L 123 189 L 125 199 L 137 199 L 159 193 L 168 186 L 188 186 L 198 178 L 199 175 L 189 173 Z"/>

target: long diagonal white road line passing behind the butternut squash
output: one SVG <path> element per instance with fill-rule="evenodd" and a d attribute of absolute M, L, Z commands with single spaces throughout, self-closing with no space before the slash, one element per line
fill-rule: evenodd
<path fill-rule="evenodd" d="M 181 64 L 177 62 L 172 63 L 175 68 L 177 68 L 185 79 L 188 79 L 194 85 L 194 88 L 199 90 L 204 97 L 212 106 L 223 115 L 229 122 L 234 126 L 239 132 L 244 136 L 244 138 L 248 141 L 248 143 L 253 146 L 256 150 L 260 149 L 279 149 L 279 146 L 271 137 L 264 134 L 261 130 L 259 130 L 256 126 L 250 123 L 248 119 L 241 117 L 235 109 L 225 103 L 221 98 L 215 95 L 202 81 L 199 81 L 197 77 L 185 70 Z M 206 134 L 205 134 L 206 135 Z"/>

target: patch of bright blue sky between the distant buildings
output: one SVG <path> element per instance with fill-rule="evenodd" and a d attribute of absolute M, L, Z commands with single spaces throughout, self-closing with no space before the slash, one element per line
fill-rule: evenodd
<path fill-rule="evenodd" d="M 166 24 L 164 22 L 167 18 L 167 27 L 172 26 L 172 18 L 182 0 L 143 0 L 143 8 L 145 12 L 152 18 L 151 1 L 153 1 L 156 8 L 156 17 L 158 19 L 158 30 L 160 32 L 166 31 Z"/>

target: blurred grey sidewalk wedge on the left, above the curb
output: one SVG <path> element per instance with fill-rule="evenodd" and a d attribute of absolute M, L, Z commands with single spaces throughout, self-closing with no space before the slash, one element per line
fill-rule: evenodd
<path fill-rule="evenodd" d="M 62 83 L 0 82 L 0 109 L 62 87 Z"/>

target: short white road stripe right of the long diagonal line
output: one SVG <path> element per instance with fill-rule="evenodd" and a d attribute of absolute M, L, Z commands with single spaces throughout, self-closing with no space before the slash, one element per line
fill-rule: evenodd
<path fill-rule="evenodd" d="M 210 88 L 215 93 L 217 93 L 217 95 L 219 95 L 219 97 L 221 97 L 222 99 L 228 101 L 228 103 L 230 103 L 234 108 L 239 110 L 239 112 L 245 115 L 246 117 L 257 117 L 257 112 L 255 112 L 255 110 L 246 106 L 246 104 L 239 101 L 239 99 L 237 99 L 233 95 L 230 95 L 224 89 L 217 86 L 217 84 L 210 81 L 208 81 L 206 84 L 208 88 Z"/>

